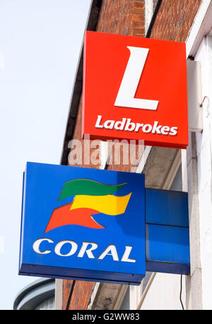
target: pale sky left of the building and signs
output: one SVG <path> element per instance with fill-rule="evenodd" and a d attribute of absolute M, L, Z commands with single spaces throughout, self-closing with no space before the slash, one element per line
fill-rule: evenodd
<path fill-rule="evenodd" d="M 18 276 L 25 162 L 59 164 L 90 0 L 0 0 L 0 309 Z"/>

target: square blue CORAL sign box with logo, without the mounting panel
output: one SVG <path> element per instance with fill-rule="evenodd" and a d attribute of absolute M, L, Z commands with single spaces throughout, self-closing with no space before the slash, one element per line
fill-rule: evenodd
<path fill-rule="evenodd" d="M 20 274 L 139 284 L 144 175 L 27 163 Z"/>

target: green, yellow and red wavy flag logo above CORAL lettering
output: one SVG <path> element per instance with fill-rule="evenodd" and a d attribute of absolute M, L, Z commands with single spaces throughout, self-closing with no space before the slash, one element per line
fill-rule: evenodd
<path fill-rule="evenodd" d="M 106 215 L 120 215 L 126 210 L 131 193 L 126 196 L 114 196 L 126 184 L 108 185 L 90 179 L 66 181 L 58 201 L 74 196 L 73 202 L 55 208 L 45 233 L 64 225 L 81 225 L 93 229 L 103 229 L 93 219 L 93 215 L 102 212 Z"/>

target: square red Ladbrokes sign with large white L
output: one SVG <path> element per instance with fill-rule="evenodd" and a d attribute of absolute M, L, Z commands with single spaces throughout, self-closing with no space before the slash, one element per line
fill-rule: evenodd
<path fill-rule="evenodd" d="M 184 43 L 86 32 L 84 51 L 83 136 L 187 147 Z"/>

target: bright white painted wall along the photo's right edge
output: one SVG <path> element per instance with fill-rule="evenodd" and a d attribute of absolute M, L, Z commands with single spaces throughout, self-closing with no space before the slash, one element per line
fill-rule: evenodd
<path fill-rule="evenodd" d="M 205 37 L 195 61 L 201 62 L 203 123 L 196 133 L 203 309 L 212 309 L 212 37 Z"/>

